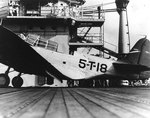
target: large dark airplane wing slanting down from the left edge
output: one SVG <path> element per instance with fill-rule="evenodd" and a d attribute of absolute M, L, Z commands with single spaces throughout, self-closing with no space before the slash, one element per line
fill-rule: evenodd
<path fill-rule="evenodd" d="M 3 26 L 0 26 L 0 63 L 21 73 L 40 76 L 55 75 L 58 79 L 62 77 L 62 74 L 28 43 Z"/>

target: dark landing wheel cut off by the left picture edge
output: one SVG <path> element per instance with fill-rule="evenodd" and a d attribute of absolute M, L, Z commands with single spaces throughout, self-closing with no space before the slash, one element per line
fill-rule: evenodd
<path fill-rule="evenodd" d="M 8 87 L 10 78 L 7 74 L 0 74 L 0 87 Z"/>

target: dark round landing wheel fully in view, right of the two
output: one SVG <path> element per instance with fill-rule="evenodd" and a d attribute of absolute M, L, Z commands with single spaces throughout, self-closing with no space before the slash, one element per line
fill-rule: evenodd
<path fill-rule="evenodd" d="M 16 76 L 12 80 L 12 85 L 15 88 L 20 88 L 23 85 L 23 79 L 20 76 Z"/>

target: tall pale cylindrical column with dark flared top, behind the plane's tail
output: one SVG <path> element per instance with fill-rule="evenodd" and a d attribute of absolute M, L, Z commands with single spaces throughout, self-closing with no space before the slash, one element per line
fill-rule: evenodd
<path fill-rule="evenodd" d="M 127 28 L 126 28 L 126 8 L 129 0 L 116 0 L 117 11 L 120 15 L 119 20 L 119 42 L 118 42 L 118 53 L 128 53 L 129 52 L 129 40 L 127 38 Z"/>

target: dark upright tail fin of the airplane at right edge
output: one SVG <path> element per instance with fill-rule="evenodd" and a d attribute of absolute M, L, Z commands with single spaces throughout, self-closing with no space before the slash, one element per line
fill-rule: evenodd
<path fill-rule="evenodd" d="M 150 41 L 140 39 L 125 57 L 125 61 L 150 67 Z"/>

